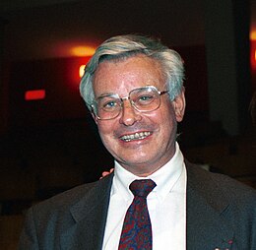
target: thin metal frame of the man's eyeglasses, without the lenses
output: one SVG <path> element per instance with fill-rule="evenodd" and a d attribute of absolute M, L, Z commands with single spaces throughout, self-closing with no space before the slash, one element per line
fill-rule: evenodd
<path fill-rule="evenodd" d="M 103 95 L 103 96 L 116 96 L 116 98 L 117 99 L 120 99 L 120 109 L 119 109 L 119 111 L 117 112 L 117 114 L 115 115 L 115 116 L 113 116 L 113 117 L 111 117 L 111 118 L 100 118 L 97 114 L 96 114 L 96 107 L 95 107 L 95 105 L 96 104 L 91 104 L 91 111 L 92 111 L 92 113 L 94 113 L 94 115 L 96 116 L 96 119 L 97 120 L 112 120 L 112 119 L 115 119 L 119 114 L 120 114 L 120 112 L 121 112 L 121 110 L 123 109 L 123 101 L 124 100 L 129 100 L 130 101 L 130 103 L 131 103 L 131 106 L 135 109 L 135 110 L 137 110 L 137 111 L 139 111 L 139 112 L 141 112 L 141 113 L 147 113 L 147 112 L 152 112 L 152 111 L 155 111 L 155 110 L 157 110 L 159 107 L 160 107 L 160 103 L 159 103 L 159 105 L 156 107 L 156 108 L 154 108 L 154 109 L 152 109 L 152 110 L 140 110 L 136 105 L 135 105 L 135 103 L 134 103 L 134 101 L 130 98 L 130 94 L 131 93 L 133 93 L 134 91 L 139 91 L 139 90 L 144 90 L 144 89 L 153 89 L 156 93 L 158 93 L 159 94 L 159 98 L 160 98 L 160 95 L 162 95 L 162 94 L 167 94 L 169 91 L 162 91 L 162 92 L 160 92 L 155 86 L 145 86 L 145 87 L 142 87 L 142 88 L 138 88 L 138 89 L 134 89 L 134 90 L 132 90 L 127 96 L 124 96 L 124 97 L 120 97 L 119 96 L 119 94 L 106 94 L 106 95 Z M 99 97 L 101 97 L 101 96 L 99 96 Z M 96 100 L 95 100 L 95 102 L 96 102 Z M 109 113 L 111 113 L 111 112 L 109 112 Z"/>

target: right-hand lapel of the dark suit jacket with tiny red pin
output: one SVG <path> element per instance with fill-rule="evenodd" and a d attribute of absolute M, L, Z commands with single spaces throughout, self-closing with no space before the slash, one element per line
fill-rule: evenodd
<path fill-rule="evenodd" d="M 187 165 L 187 249 L 234 249 L 227 199 L 209 174 Z"/>

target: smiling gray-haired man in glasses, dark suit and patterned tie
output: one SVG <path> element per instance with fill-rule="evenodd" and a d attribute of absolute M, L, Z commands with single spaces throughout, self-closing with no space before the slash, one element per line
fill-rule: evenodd
<path fill-rule="evenodd" d="M 20 249 L 256 249 L 255 191 L 192 165 L 179 150 L 183 79 L 182 59 L 158 40 L 120 35 L 97 48 L 81 94 L 114 171 L 32 207 Z M 146 198 L 130 191 L 134 180 L 151 182 Z M 146 214 L 129 214 L 137 198 Z M 126 213 L 133 226 L 126 227 Z M 129 246 L 137 234 L 141 242 Z"/>

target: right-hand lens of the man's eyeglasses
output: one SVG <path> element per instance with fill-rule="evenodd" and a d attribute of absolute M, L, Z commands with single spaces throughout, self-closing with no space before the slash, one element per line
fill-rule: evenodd
<path fill-rule="evenodd" d="M 130 100 L 139 111 L 153 111 L 160 106 L 160 94 L 153 87 L 132 91 L 130 93 Z"/>

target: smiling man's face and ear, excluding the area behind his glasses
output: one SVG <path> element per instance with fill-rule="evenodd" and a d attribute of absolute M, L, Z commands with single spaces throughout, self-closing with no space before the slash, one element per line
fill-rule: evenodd
<path fill-rule="evenodd" d="M 155 86 L 166 91 L 160 63 L 143 55 L 122 61 L 103 61 L 94 78 L 96 97 L 103 94 L 127 96 L 132 90 Z M 176 123 L 184 114 L 184 94 L 170 101 L 160 95 L 160 107 L 151 112 L 139 112 L 129 100 L 123 101 L 120 114 L 111 120 L 95 117 L 102 143 L 109 153 L 128 171 L 148 176 L 158 170 L 175 153 Z M 135 140 L 125 140 L 140 135 Z"/>

